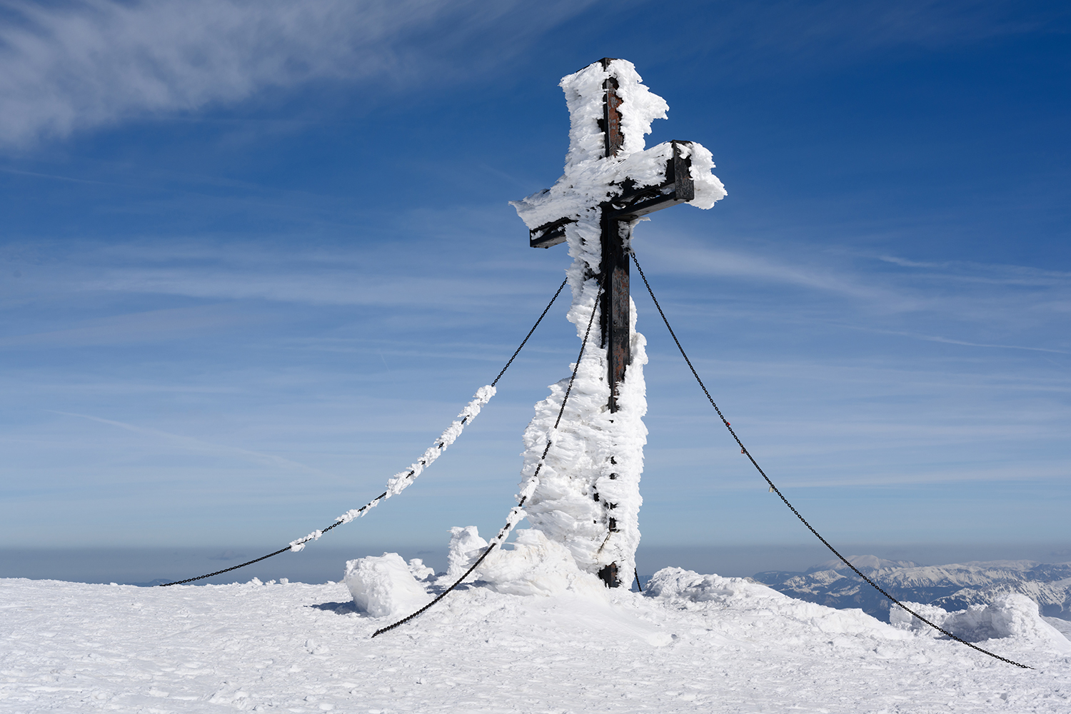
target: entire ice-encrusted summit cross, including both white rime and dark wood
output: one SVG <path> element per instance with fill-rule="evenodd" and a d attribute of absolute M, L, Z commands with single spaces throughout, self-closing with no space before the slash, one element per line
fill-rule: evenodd
<path fill-rule="evenodd" d="M 582 569 L 617 587 L 635 568 L 647 442 L 646 340 L 635 331 L 629 295 L 632 227 L 677 203 L 709 209 L 725 188 L 710 172 L 710 152 L 698 143 L 644 149 L 651 122 L 665 119 L 668 106 L 640 83 L 631 62 L 603 59 L 564 77 L 561 88 L 571 119 L 565 172 L 552 188 L 512 203 L 532 247 L 568 243 L 569 320 L 583 337 L 598 308 L 600 329 L 592 330 L 564 419 L 532 482 L 568 379 L 536 406 L 525 431 L 521 488 L 531 491 L 525 502 L 531 525 L 564 544 Z M 600 282 L 604 292 L 597 306 Z"/>

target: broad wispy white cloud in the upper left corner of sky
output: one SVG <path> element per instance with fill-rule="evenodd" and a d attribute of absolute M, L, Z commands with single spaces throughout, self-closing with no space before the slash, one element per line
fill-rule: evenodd
<path fill-rule="evenodd" d="M 419 82 L 456 74 L 457 64 L 472 71 L 488 55 L 511 56 L 588 4 L 555 1 L 536 12 L 513 0 L 492 6 L 473 0 L 4 2 L 0 146 L 26 147 L 315 80 Z M 472 43 L 476 36 L 482 42 Z M 481 51 L 450 51 L 469 43 Z"/>

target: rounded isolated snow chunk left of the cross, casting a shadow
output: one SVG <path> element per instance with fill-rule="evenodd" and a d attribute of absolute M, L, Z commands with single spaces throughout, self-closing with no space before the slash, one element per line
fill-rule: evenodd
<path fill-rule="evenodd" d="M 409 614 L 432 599 L 396 552 L 347 561 L 344 580 L 357 609 L 374 618 Z"/>

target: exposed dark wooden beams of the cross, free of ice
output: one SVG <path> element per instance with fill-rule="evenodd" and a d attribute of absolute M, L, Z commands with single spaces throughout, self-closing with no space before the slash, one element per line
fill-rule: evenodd
<path fill-rule="evenodd" d="M 612 58 L 600 60 L 603 69 L 609 67 Z M 621 127 L 621 97 L 618 81 L 610 76 L 603 82 L 603 118 L 600 126 L 604 137 L 604 158 L 617 156 L 624 146 Z M 607 379 L 610 385 L 609 410 L 617 411 L 618 388 L 631 362 L 629 323 L 629 252 L 632 224 L 648 213 L 691 201 L 695 198 L 692 180 L 690 141 L 673 141 L 672 156 L 666 161 L 665 173 L 660 183 L 637 186 L 630 177 L 610 186 L 610 196 L 599 203 L 602 223 L 602 262 L 600 276 L 608 276 L 602 297 L 602 347 L 607 356 Z M 563 216 L 547 222 L 529 231 L 533 248 L 548 248 L 565 241 L 565 226 L 576 218 Z"/>

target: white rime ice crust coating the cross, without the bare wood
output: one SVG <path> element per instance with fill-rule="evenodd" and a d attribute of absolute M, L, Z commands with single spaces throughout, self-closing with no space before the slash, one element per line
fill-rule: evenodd
<path fill-rule="evenodd" d="M 618 81 L 617 95 L 622 100 L 624 143 L 617 155 L 604 157 L 605 137 L 600 121 L 604 82 L 612 76 Z M 600 203 L 621 191 L 625 177 L 636 187 L 660 185 L 674 146 L 666 142 L 644 149 L 644 136 L 650 134 L 651 122 L 664 119 L 668 106 L 640 83 L 631 62 L 613 60 L 606 69 L 597 62 L 564 77 L 561 88 L 571 118 L 565 172 L 548 191 L 513 201 L 513 206 L 531 229 L 561 217 L 575 221 L 565 225 L 569 255 L 573 258 L 567 272 L 573 291 L 568 317 L 583 337 L 591 310 L 599 309 Z M 711 208 L 726 194 L 721 181 L 710 172 L 714 166 L 710 152 L 698 143 L 677 146 L 691 158 L 695 198 L 689 202 Z M 630 314 L 632 359 L 618 388 L 618 411 L 612 413 L 607 408 L 610 385 L 606 354 L 598 349 L 602 340 L 592 335 L 590 344 L 595 349 L 584 354 L 564 416 L 553 438 L 549 432 L 569 380 L 552 385 L 550 395 L 536 405 L 536 416 L 524 436 L 521 482 L 521 496 L 528 497 L 524 508 L 536 529 L 565 545 L 580 569 L 598 573 L 617 563 L 623 580 L 633 573 L 639 545 L 639 476 L 647 443 L 643 422 L 647 412 L 647 340 L 635 329 L 635 304 L 631 304 Z M 537 481 L 536 467 L 548 438 L 553 446 Z"/>

